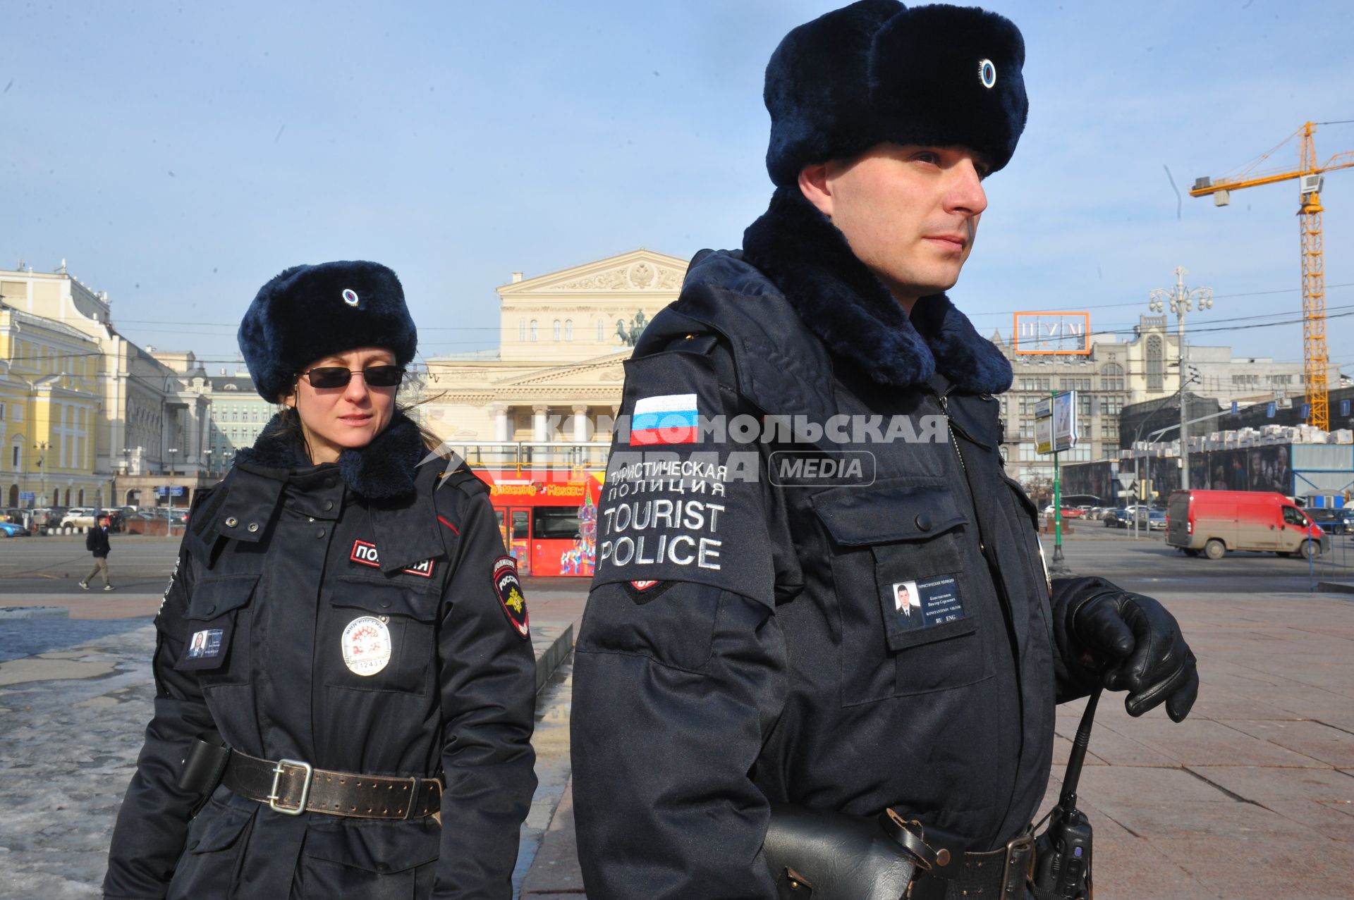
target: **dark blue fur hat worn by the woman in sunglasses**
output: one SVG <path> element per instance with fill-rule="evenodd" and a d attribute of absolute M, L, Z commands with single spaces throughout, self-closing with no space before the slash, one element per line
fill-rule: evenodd
<path fill-rule="evenodd" d="M 383 346 L 408 365 L 418 330 L 399 279 L 366 261 L 294 265 L 259 288 L 240 322 L 240 352 L 259 394 L 278 402 L 306 365 L 355 346 Z"/>

